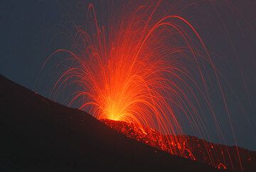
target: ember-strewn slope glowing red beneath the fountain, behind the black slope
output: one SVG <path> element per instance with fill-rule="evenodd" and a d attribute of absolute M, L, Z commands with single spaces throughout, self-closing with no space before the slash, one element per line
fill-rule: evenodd
<path fill-rule="evenodd" d="M 236 154 L 235 147 L 228 147 L 227 151 L 225 145 L 213 144 L 193 136 L 183 136 L 183 142 L 170 143 L 169 138 L 174 136 L 166 136 L 151 128 L 141 128 L 134 123 L 113 121 L 110 119 L 101 119 L 101 121 L 129 138 L 136 139 L 137 141 L 141 141 L 144 144 L 148 144 L 149 146 L 166 151 L 170 154 L 182 152 L 184 158 L 189 158 L 193 161 L 206 163 L 219 169 L 228 168 L 240 171 L 239 163 L 227 163 L 229 161 L 228 154 L 231 154 L 233 162 L 238 162 L 238 158 L 234 156 Z M 155 152 L 157 153 L 157 151 Z M 208 156 L 209 153 L 212 154 L 211 157 Z M 250 168 L 250 166 L 256 165 L 256 152 L 240 148 L 240 157 L 242 163 L 246 165 L 243 169 L 244 171 L 247 171 L 248 167 Z M 254 159 L 253 161 L 252 157 Z M 224 162 L 226 162 L 225 165 Z"/>

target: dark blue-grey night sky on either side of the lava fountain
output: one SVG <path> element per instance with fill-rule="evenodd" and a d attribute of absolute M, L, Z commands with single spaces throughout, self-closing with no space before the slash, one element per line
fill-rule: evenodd
<path fill-rule="evenodd" d="M 62 30 L 56 24 L 65 23 L 67 14 L 76 15 L 78 1 L 2 0 L 0 4 L 1 75 L 47 96 L 50 87 L 42 85 L 49 80 L 41 83 L 40 89 L 33 86 L 48 55 L 68 46 L 68 39 L 58 34 Z M 97 9 L 100 3 L 92 4 Z M 82 1 L 82 5 L 86 9 L 87 2 Z M 201 34 L 210 55 L 217 59 L 217 67 L 233 88 L 233 92 L 225 94 L 238 146 L 256 150 L 256 1 L 232 1 L 232 6 L 217 3 L 216 8 L 223 21 L 208 3 L 197 3 L 181 15 Z M 76 18 L 75 22 L 81 24 L 82 19 Z M 215 58 L 217 55 L 221 57 Z M 222 108 L 216 111 L 225 113 Z M 223 134 L 227 143 L 233 144 L 230 129 L 225 128 L 226 120 L 220 122 Z"/>

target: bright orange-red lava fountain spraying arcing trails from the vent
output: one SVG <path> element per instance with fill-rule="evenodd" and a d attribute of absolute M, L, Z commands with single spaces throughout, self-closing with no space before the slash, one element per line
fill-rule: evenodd
<path fill-rule="evenodd" d="M 139 136 L 155 141 L 151 146 L 196 160 L 183 126 L 209 139 L 207 112 L 223 139 L 209 93 L 213 86 L 220 95 L 223 90 L 201 36 L 174 9 L 165 1 L 126 2 L 100 16 L 107 18 L 103 25 L 89 4 L 86 26 L 75 26 L 71 50 L 56 50 L 49 57 L 65 53 L 68 61 L 51 97 L 67 85 L 78 86 L 70 106 L 79 104 L 97 119 L 132 124 Z M 222 101 L 227 107 L 224 96 Z M 207 163 L 233 169 L 228 151 L 217 158 L 214 152 L 206 152 Z"/>

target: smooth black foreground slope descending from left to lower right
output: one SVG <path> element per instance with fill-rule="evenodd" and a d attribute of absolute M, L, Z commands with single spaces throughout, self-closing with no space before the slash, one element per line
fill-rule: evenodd
<path fill-rule="evenodd" d="M 0 171 L 218 171 L 129 139 L 0 75 Z"/>

